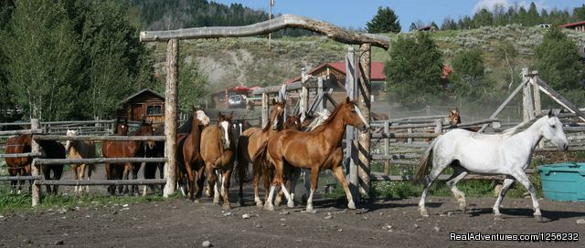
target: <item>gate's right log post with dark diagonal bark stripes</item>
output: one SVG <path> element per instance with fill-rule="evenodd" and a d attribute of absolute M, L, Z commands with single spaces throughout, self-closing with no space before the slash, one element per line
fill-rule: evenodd
<path fill-rule="evenodd" d="M 370 98 L 371 98 L 371 67 L 372 67 L 372 55 L 371 55 L 371 44 L 365 43 L 359 47 L 359 93 L 357 94 L 357 108 L 359 108 L 366 118 L 367 125 L 369 125 L 370 118 Z M 370 193 L 370 133 L 369 129 L 366 131 L 358 131 L 357 134 L 358 142 L 357 151 L 359 159 L 359 191 L 362 194 L 369 196 Z"/>

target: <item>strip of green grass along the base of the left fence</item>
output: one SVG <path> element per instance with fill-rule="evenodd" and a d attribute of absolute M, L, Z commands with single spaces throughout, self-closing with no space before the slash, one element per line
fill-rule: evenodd
<path fill-rule="evenodd" d="M 175 197 L 171 197 L 175 198 Z M 10 186 L 0 185 L 0 214 L 16 212 L 37 212 L 55 208 L 101 207 L 111 204 L 134 204 L 145 202 L 163 202 L 166 199 L 160 195 L 152 196 L 105 196 L 98 193 L 85 195 L 41 195 L 40 204 L 32 207 L 30 193 L 16 194 L 10 191 Z"/>

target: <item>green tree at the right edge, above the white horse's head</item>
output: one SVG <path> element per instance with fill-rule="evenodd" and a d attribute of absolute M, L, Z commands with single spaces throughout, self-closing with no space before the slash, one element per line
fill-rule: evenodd
<path fill-rule="evenodd" d="M 552 26 L 535 47 L 538 76 L 576 103 L 585 102 L 583 65 L 576 44 L 558 26 Z"/>

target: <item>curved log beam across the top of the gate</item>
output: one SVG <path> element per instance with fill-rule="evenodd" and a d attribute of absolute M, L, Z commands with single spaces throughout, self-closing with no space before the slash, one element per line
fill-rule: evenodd
<path fill-rule="evenodd" d="M 281 15 L 270 21 L 249 26 L 207 26 L 166 31 L 143 31 L 140 32 L 140 40 L 143 42 L 152 42 L 166 41 L 171 38 L 197 39 L 259 36 L 292 27 L 311 30 L 345 44 L 361 45 L 369 43 L 372 46 L 382 47 L 384 49 L 388 49 L 390 46 L 390 38 L 388 36 L 354 33 L 332 24 L 300 15 Z"/>

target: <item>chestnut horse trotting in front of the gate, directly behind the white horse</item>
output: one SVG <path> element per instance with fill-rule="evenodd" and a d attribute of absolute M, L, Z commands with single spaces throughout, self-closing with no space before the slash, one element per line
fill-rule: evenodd
<path fill-rule="evenodd" d="M 319 171 L 324 169 L 332 170 L 337 181 L 344 187 L 348 202 L 347 207 L 356 208 L 347 186 L 342 165 L 343 147 L 341 141 L 346 132 L 346 125 L 357 129 L 369 128 L 367 119 L 356 107 L 356 103 L 350 101 L 349 98 L 346 98 L 346 102 L 337 105 L 329 119 L 325 120 L 317 129 L 310 132 L 282 130 L 272 136 L 270 140 L 262 143 L 260 150 L 253 158 L 254 164 L 268 163 L 275 169 L 271 191 L 265 204 L 266 209 L 274 210 L 272 198 L 276 186 L 281 186 L 288 202 L 287 205 L 294 206 L 293 199 L 282 181 L 285 165 L 311 169 L 311 193 L 307 200 L 307 212 L 313 212 L 313 195 L 317 189 Z"/>

